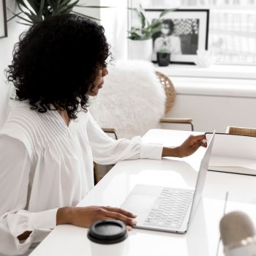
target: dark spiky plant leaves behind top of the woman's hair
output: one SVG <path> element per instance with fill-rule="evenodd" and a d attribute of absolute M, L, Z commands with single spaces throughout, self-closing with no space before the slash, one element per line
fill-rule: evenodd
<path fill-rule="evenodd" d="M 92 18 L 94 20 L 99 20 L 97 18 L 91 17 L 89 15 L 84 15 L 80 12 L 75 12 L 74 7 L 87 7 L 87 8 L 106 8 L 99 6 L 87 6 L 85 4 L 78 4 L 79 0 L 16 0 L 20 12 L 13 13 L 12 18 L 18 17 L 22 21 L 18 23 L 24 25 L 33 25 L 34 23 L 41 22 L 46 18 L 54 15 L 61 15 L 65 13 L 75 13 L 86 18 Z M 12 20 L 10 18 L 10 20 Z M 9 20 L 8 20 L 9 21 Z"/>

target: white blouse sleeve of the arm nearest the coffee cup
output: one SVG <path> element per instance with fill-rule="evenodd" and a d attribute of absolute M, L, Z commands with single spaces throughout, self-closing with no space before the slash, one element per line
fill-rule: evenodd
<path fill-rule="evenodd" d="M 19 140 L 0 135 L 0 254 L 23 254 L 29 246 L 42 241 L 56 226 L 56 211 L 24 210 L 28 196 L 30 159 Z M 18 236 L 31 231 L 29 238 Z"/>

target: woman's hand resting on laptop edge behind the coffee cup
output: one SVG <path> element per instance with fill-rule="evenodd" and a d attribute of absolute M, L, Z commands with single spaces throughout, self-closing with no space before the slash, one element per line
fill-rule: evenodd
<path fill-rule="evenodd" d="M 72 224 L 78 227 L 90 227 L 93 222 L 101 219 L 118 219 L 129 227 L 136 225 L 136 215 L 121 208 L 105 206 L 63 207 L 56 216 L 57 225 Z"/>

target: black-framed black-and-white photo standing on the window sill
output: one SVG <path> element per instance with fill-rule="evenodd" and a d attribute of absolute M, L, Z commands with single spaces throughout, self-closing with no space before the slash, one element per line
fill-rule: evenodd
<path fill-rule="evenodd" d="M 149 20 L 159 17 L 163 10 L 146 10 Z M 153 34 L 152 61 L 157 51 L 170 51 L 170 63 L 195 64 L 197 50 L 208 48 L 209 10 L 176 10 L 165 15 L 161 31 Z"/>

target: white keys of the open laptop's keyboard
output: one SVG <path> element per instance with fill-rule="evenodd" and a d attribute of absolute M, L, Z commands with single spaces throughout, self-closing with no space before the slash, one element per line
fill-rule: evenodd
<path fill-rule="evenodd" d="M 162 189 L 144 225 L 157 227 L 181 227 L 194 195 L 193 190 Z"/>

